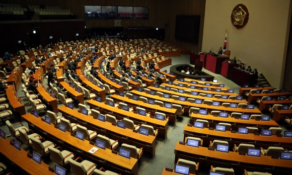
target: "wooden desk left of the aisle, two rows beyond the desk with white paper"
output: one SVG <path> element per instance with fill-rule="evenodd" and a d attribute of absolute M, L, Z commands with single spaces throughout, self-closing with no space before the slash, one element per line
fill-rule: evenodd
<path fill-rule="evenodd" d="M 94 100 L 87 101 L 87 104 L 90 106 L 91 109 L 96 109 L 103 114 L 110 114 L 114 115 L 117 120 L 122 120 L 123 118 L 128 118 L 133 120 L 135 124 L 147 124 L 153 126 L 154 130 L 158 129 L 158 134 L 167 138 L 167 128 L 168 128 L 168 121 L 164 120 L 157 120 L 151 118 L 149 116 L 141 116 L 139 114 L 135 114 L 132 111 L 125 111 L 122 109 L 118 109 L 117 107 L 111 107 L 106 105 L 105 103 L 99 103 Z M 154 147 L 155 149 L 155 147 Z M 155 155 L 155 150 L 151 151 L 153 156 Z"/>

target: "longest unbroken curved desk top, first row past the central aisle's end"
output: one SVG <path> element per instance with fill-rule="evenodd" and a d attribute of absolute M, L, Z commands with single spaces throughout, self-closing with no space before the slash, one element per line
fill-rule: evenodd
<path fill-rule="evenodd" d="M 190 103 L 190 102 L 182 102 L 182 101 L 178 101 L 178 100 L 174 100 L 174 99 L 166 99 L 163 97 L 159 97 L 159 96 L 153 96 L 150 94 L 146 94 L 145 92 L 138 92 L 136 90 L 132 90 L 131 94 L 137 95 L 137 96 L 143 96 L 149 99 L 156 99 L 162 102 L 166 102 L 166 103 L 173 103 L 173 104 L 178 104 L 178 105 L 182 105 L 182 107 L 196 107 L 196 108 L 201 108 L 201 109 L 208 109 L 208 110 L 216 110 L 216 111 L 227 111 L 229 113 L 232 112 L 238 112 L 238 113 L 245 113 L 245 114 L 261 114 L 261 112 L 258 109 L 242 109 L 242 108 L 226 108 L 223 106 L 208 106 L 206 104 L 195 104 L 195 103 Z"/>

